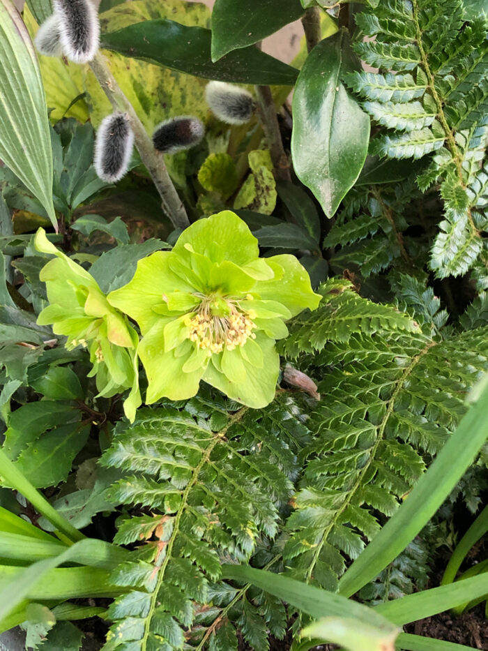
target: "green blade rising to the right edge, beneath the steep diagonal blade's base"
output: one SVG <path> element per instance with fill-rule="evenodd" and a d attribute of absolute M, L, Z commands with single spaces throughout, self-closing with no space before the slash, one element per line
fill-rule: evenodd
<path fill-rule="evenodd" d="M 400 599 L 374 606 L 374 610 L 381 613 L 390 622 L 399 625 L 409 624 L 409 622 L 422 620 L 466 604 L 471 599 L 478 599 L 485 594 L 488 594 L 488 574 L 486 573 L 466 578 L 464 581 L 441 585 L 439 588 L 432 588 L 432 590 L 407 594 Z"/>

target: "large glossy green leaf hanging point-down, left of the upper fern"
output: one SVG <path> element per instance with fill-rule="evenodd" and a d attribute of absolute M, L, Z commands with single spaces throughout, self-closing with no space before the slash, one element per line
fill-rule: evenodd
<path fill-rule="evenodd" d="M 341 81 L 356 65 L 342 29 L 310 52 L 293 95 L 293 166 L 328 217 L 355 183 L 367 154 L 369 117 Z"/>

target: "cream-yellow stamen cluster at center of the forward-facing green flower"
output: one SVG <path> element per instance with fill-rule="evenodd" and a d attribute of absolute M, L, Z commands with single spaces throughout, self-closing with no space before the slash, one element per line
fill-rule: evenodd
<path fill-rule="evenodd" d="M 253 330 L 255 318 L 252 310 L 239 310 L 234 301 L 217 295 L 203 297 L 197 314 L 189 317 L 185 325 L 190 328 L 188 338 L 210 353 L 234 350 L 243 346 L 247 339 L 256 338 Z"/>

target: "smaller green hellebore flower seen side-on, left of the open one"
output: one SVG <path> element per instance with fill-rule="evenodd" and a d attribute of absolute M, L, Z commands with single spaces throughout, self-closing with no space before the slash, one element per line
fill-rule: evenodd
<path fill-rule="evenodd" d="M 107 301 L 95 278 L 79 264 L 61 253 L 40 228 L 34 246 L 42 253 L 56 255 L 40 271 L 46 283 L 49 306 L 38 316 L 38 324 L 52 324 L 55 334 L 68 338 L 68 350 L 81 345 L 90 353 L 99 396 L 109 398 L 130 388 L 124 403 L 125 415 L 132 422 L 141 404 L 137 373 L 139 337 L 127 318 Z"/>

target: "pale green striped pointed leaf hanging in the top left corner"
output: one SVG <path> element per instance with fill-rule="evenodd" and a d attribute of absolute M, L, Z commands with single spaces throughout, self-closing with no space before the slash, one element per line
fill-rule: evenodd
<path fill-rule="evenodd" d="M 57 227 L 43 82 L 29 33 L 10 0 L 0 0 L 0 61 L 0 158 Z"/>

